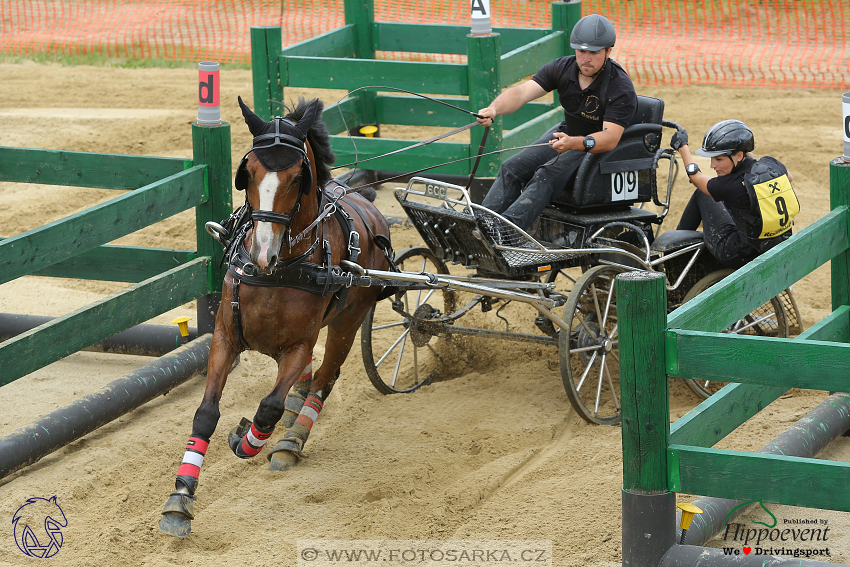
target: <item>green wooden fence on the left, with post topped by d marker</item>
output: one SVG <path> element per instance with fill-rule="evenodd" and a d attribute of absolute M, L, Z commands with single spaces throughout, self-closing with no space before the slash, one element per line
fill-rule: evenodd
<path fill-rule="evenodd" d="M 193 124 L 193 159 L 0 147 L 0 182 L 130 190 L 105 203 L 0 240 L 0 284 L 25 275 L 133 283 L 0 343 L 0 386 L 198 299 L 211 332 L 223 250 L 204 230 L 232 211 L 230 125 Z M 109 245 L 194 208 L 196 250 Z"/>

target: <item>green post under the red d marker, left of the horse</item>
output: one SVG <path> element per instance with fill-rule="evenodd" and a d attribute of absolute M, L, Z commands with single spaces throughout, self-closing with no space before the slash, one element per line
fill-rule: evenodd
<path fill-rule="evenodd" d="M 219 126 L 192 124 L 192 151 L 195 165 L 206 164 L 207 200 L 195 207 L 195 230 L 198 256 L 210 256 L 209 294 L 198 298 L 198 334 L 211 333 L 215 315 L 221 303 L 221 283 L 224 269 L 220 268 L 224 249 L 207 234 L 207 221 L 220 222 L 233 212 L 230 163 L 230 124 Z"/>

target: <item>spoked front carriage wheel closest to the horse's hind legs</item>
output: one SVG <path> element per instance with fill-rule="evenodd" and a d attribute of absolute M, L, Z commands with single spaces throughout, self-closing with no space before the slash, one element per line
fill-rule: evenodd
<path fill-rule="evenodd" d="M 445 263 L 424 247 L 402 250 L 396 265 L 405 272 L 449 273 Z M 393 310 L 396 298 L 413 315 L 412 321 Z M 372 385 L 382 394 L 397 394 L 431 382 L 441 363 L 439 338 L 417 329 L 416 322 L 453 311 L 454 293 L 444 289 L 408 290 L 376 303 L 360 328 L 363 364 Z"/>

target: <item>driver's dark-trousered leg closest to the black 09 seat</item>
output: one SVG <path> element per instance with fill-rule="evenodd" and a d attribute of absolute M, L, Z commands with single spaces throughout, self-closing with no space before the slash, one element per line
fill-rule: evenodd
<path fill-rule="evenodd" d="M 522 195 L 502 216 L 522 229 L 530 228 L 555 192 L 563 189 L 575 175 L 586 156 L 585 152 L 566 151 L 539 167 Z"/>

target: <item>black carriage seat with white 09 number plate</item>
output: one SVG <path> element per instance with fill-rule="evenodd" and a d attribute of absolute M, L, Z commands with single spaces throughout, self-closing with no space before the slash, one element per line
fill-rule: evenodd
<path fill-rule="evenodd" d="M 617 146 L 585 156 L 572 183 L 552 204 L 568 211 L 623 208 L 652 199 L 653 161 L 661 145 L 664 101 L 637 96 L 637 110 Z"/>

